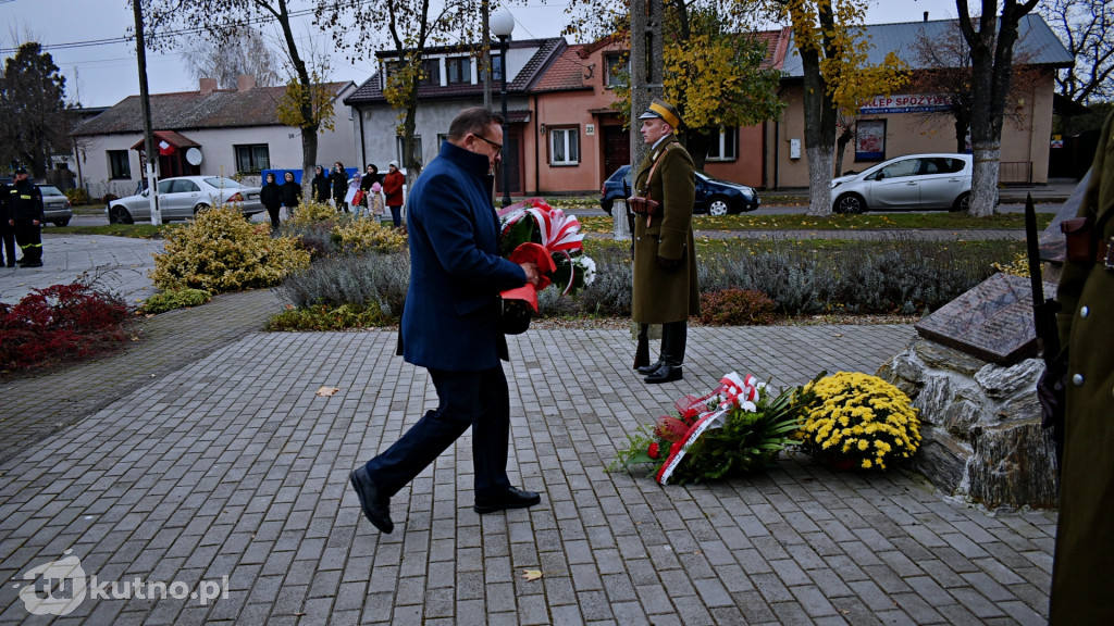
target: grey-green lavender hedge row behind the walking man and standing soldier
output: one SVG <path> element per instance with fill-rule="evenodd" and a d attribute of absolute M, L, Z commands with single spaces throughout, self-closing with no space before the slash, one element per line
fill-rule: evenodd
<path fill-rule="evenodd" d="M 342 218 L 343 221 L 343 218 Z M 704 312 L 709 323 L 766 323 L 769 315 L 831 312 L 922 314 L 994 273 L 991 263 L 1012 258 L 1024 242 L 871 242 L 721 239 L 697 245 Z M 589 239 L 596 280 L 575 297 L 547 290 L 539 315 L 631 315 L 632 264 L 627 242 Z M 370 306 L 397 320 L 409 281 L 405 253 L 339 255 L 291 276 L 280 294 L 295 307 L 320 304 Z M 741 295 L 742 292 L 764 294 Z M 717 299 L 717 300 L 715 300 Z M 769 310 L 769 302 L 773 310 Z M 726 300 L 726 302 L 721 302 Z M 747 317 L 750 315 L 751 317 Z M 731 317 L 736 316 L 736 317 Z M 729 321 L 729 317 L 731 320 Z M 739 321 L 735 321 L 739 320 Z"/>

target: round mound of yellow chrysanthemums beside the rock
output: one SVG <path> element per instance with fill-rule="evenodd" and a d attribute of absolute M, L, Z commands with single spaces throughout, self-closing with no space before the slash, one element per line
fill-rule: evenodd
<path fill-rule="evenodd" d="M 797 433 L 815 459 L 850 459 L 863 469 L 886 469 L 920 446 L 920 420 L 909 397 L 878 376 L 837 372 L 805 387 L 814 399 Z"/>

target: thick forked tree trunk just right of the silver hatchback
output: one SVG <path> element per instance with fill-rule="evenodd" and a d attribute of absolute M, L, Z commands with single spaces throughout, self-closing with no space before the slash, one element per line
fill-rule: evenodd
<path fill-rule="evenodd" d="M 1001 121 L 1006 97 L 1014 71 L 1014 43 L 1017 25 L 1039 0 L 1005 0 L 998 18 L 996 0 L 983 0 L 981 14 L 975 19 L 967 0 L 956 0 L 959 28 L 971 51 L 971 151 L 975 172 L 971 175 L 970 215 L 994 214 L 998 199 L 998 158 L 1001 155 Z"/>

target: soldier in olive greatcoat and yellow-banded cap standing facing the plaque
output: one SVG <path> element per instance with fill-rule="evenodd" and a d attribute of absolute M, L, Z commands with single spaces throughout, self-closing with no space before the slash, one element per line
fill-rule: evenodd
<path fill-rule="evenodd" d="M 700 284 L 693 241 L 696 169 L 673 131 L 681 115 L 655 98 L 643 120 L 642 137 L 651 146 L 634 178 L 634 302 L 632 316 L 645 341 L 649 324 L 662 324 L 656 363 L 638 368 L 647 383 L 680 380 L 685 361 L 688 316 L 700 314 Z M 648 198 L 648 202 L 643 202 Z"/>

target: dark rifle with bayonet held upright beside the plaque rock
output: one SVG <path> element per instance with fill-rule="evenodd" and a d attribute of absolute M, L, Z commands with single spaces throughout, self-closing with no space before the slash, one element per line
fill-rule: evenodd
<path fill-rule="evenodd" d="M 1033 322 L 1036 326 L 1037 356 L 1045 362 L 1045 371 L 1037 382 L 1037 399 L 1040 401 L 1043 420 L 1040 426 L 1052 429 L 1052 440 L 1056 444 L 1056 471 L 1059 472 L 1064 458 L 1064 379 L 1067 363 L 1058 359 L 1059 332 L 1056 329 L 1056 313 L 1059 303 L 1045 300 L 1044 282 L 1040 278 L 1040 245 L 1037 241 L 1037 215 L 1033 206 L 1033 195 L 1025 198 L 1025 243 L 1029 260 L 1029 284 L 1033 287 Z"/>

